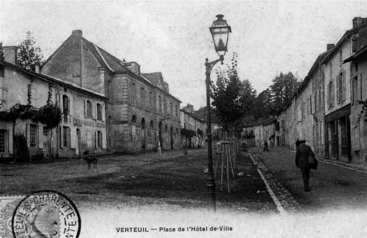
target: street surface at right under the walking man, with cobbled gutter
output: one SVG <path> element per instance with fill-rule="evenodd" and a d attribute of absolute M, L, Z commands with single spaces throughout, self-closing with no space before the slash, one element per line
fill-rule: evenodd
<path fill-rule="evenodd" d="M 270 187 L 278 199 L 291 210 L 326 212 L 365 210 L 367 208 L 367 174 L 339 166 L 319 163 L 311 170 L 310 192 L 304 192 L 300 169 L 295 165 L 295 154 L 269 149 L 252 148 L 250 154 L 261 162 Z M 280 186 L 280 184 L 282 186 Z"/>

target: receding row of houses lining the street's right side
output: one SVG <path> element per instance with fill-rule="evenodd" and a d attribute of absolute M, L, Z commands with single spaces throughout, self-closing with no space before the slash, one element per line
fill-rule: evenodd
<path fill-rule="evenodd" d="M 297 139 L 309 141 L 319 157 L 367 162 L 367 18 L 356 17 L 352 29 L 328 44 L 288 105 L 265 122 L 245 126 L 249 145 L 295 149 Z M 252 144 L 251 144 L 252 143 Z"/>

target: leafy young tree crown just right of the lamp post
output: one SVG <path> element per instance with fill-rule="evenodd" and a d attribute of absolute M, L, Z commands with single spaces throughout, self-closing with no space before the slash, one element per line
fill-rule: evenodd
<path fill-rule="evenodd" d="M 240 81 L 237 74 L 237 53 L 233 53 L 231 65 L 217 71 L 216 85 L 211 83 L 212 105 L 222 129 L 235 133 L 243 125 L 246 112 L 252 108 L 255 93 L 248 80 Z M 228 139 L 228 135 L 226 136 Z"/>

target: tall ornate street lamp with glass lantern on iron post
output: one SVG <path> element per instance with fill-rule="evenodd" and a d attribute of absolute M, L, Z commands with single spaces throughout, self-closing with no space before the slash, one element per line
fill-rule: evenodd
<path fill-rule="evenodd" d="M 227 21 L 223 20 L 223 15 L 219 14 L 216 16 L 218 19 L 213 22 L 213 25 L 211 28 L 209 28 L 210 33 L 213 36 L 213 42 L 214 42 L 214 48 L 217 54 L 219 55 L 219 59 L 208 62 L 208 58 L 205 59 L 205 66 L 206 66 L 206 86 L 207 86 L 207 126 L 208 126 L 208 180 L 206 183 L 207 190 L 208 190 L 208 211 L 216 211 L 216 205 L 215 205 L 215 179 L 214 179 L 214 173 L 213 173 L 213 156 L 212 156 L 212 123 L 211 123 L 211 114 L 210 114 L 210 73 L 212 72 L 212 69 L 215 64 L 217 64 L 219 61 L 222 62 L 224 60 L 224 55 L 227 52 L 227 43 L 228 43 L 228 35 L 231 31 L 231 27 L 228 26 Z M 223 54 L 220 54 L 219 52 L 223 52 Z"/>

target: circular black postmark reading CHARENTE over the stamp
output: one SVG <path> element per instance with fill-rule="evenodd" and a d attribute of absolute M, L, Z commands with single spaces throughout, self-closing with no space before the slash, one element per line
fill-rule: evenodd
<path fill-rule="evenodd" d="M 14 238 L 78 237 L 80 215 L 74 203 L 60 192 L 34 192 L 15 207 L 11 219 Z"/>

